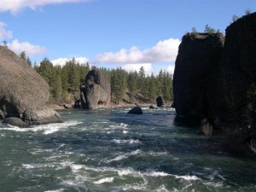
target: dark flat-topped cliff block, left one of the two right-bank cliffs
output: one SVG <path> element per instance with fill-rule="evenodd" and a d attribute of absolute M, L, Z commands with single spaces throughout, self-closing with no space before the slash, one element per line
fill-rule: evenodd
<path fill-rule="evenodd" d="M 223 47 L 224 37 L 219 33 L 183 36 L 173 75 L 174 106 L 178 116 L 201 119 L 207 115 L 209 82 L 218 71 Z"/>

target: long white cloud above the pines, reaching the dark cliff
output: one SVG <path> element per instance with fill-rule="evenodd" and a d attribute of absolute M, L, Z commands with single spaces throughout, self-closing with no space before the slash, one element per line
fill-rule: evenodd
<path fill-rule="evenodd" d="M 158 42 L 152 48 L 138 49 L 120 49 L 118 52 L 105 52 L 96 56 L 97 62 L 105 63 L 154 63 L 175 61 L 177 49 L 180 44 L 179 39 L 169 38 Z"/>

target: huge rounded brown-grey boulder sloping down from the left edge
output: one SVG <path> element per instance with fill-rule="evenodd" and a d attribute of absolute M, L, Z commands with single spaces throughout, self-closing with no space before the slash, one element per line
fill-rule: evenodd
<path fill-rule="evenodd" d="M 26 109 L 49 100 L 49 86 L 18 55 L 0 46 L 0 118 L 22 117 Z"/>

